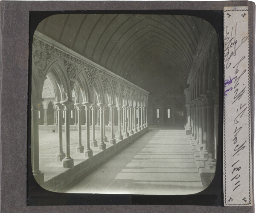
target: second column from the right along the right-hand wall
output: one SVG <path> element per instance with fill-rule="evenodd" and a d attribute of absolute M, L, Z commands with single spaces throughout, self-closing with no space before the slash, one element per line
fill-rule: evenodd
<path fill-rule="evenodd" d="M 207 158 L 207 107 L 202 107 L 202 143 L 203 148 L 200 152 L 200 158 Z"/>

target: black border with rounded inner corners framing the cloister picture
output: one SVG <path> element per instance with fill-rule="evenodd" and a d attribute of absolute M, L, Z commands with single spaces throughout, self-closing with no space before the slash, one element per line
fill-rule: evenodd
<path fill-rule="evenodd" d="M 38 24 L 54 14 L 172 14 L 203 18 L 212 24 L 218 35 L 219 52 L 219 130 L 216 172 L 212 183 L 200 193 L 193 195 L 112 195 L 54 193 L 40 187 L 31 167 L 31 68 L 32 38 Z M 209 205 L 224 206 L 223 201 L 223 10 L 115 10 L 115 11 L 30 11 L 29 13 L 29 86 L 28 86 L 28 148 L 27 148 L 27 205 L 99 205 L 99 204 L 163 204 L 163 205 Z"/>

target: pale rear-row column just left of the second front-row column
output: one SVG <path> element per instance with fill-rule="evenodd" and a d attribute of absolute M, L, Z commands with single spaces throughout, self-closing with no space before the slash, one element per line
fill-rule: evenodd
<path fill-rule="evenodd" d="M 63 152 L 63 145 L 62 145 L 62 105 L 59 102 L 55 102 L 54 105 L 58 107 L 57 109 L 57 116 L 58 116 L 58 135 L 59 135 L 59 143 L 58 143 L 58 153 L 56 153 L 56 161 L 62 161 L 66 154 Z"/>

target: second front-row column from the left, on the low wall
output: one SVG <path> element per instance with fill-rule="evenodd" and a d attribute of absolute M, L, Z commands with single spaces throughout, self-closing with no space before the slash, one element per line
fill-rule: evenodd
<path fill-rule="evenodd" d="M 73 101 L 61 101 L 65 108 L 65 133 L 66 133 L 66 156 L 62 160 L 64 168 L 72 168 L 74 166 L 74 159 L 70 157 L 70 105 Z"/>

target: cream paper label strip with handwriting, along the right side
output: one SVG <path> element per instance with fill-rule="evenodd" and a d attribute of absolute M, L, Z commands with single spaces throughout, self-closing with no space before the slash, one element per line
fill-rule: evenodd
<path fill-rule="evenodd" d="M 224 205 L 252 204 L 248 7 L 224 7 Z"/>

